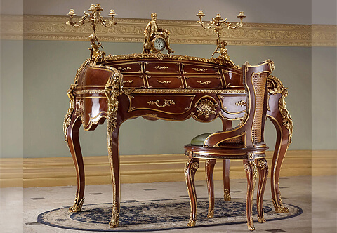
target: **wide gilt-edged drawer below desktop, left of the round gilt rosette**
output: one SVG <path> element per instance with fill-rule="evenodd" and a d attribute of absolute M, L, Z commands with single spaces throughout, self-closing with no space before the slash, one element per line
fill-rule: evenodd
<path fill-rule="evenodd" d="M 128 111 L 150 109 L 168 114 L 183 114 L 192 108 L 194 95 L 128 95 Z"/>

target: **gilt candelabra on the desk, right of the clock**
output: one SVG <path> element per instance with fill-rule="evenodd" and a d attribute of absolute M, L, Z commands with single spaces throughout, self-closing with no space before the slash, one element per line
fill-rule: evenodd
<path fill-rule="evenodd" d="M 246 17 L 246 15 L 244 15 L 244 12 L 240 11 L 239 15 L 237 15 L 237 18 L 240 19 L 240 22 L 237 22 L 235 24 L 233 22 L 227 22 L 227 18 L 223 19 L 221 18 L 220 14 L 217 14 L 216 17 L 212 18 L 209 24 L 205 26 L 205 23 L 202 21 L 202 18 L 205 16 L 204 12 L 200 10 L 197 13 L 197 16 L 200 18 L 200 20 L 198 21 L 199 24 L 204 27 L 204 29 L 211 29 L 211 27 L 214 26 L 214 32 L 216 32 L 216 35 L 218 36 L 218 39 L 216 39 L 216 51 L 214 51 L 212 57 L 215 53 L 220 53 L 219 62 L 221 64 L 230 64 L 234 66 L 234 62 L 230 60 L 230 57 L 227 54 L 227 48 L 225 48 L 227 46 L 227 41 L 221 40 L 221 30 L 223 29 L 223 25 L 226 25 L 228 29 L 241 28 L 244 25 L 242 20 Z M 220 51 L 218 51 L 218 49 L 220 49 Z"/>

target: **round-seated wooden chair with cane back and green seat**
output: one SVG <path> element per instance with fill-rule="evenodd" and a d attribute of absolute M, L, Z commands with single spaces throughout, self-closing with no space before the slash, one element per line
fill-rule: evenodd
<path fill-rule="evenodd" d="M 244 88 L 246 90 L 246 114 L 240 124 L 226 131 L 204 133 L 185 145 L 188 161 L 185 166 L 185 178 L 190 196 L 191 213 L 188 226 L 194 226 L 197 214 L 197 194 L 194 187 L 194 175 L 199 168 L 199 159 L 206 159 L 206 181 L 209 191 L 208 217 L 214 214 L 213 168 L 216 159 L 243 159 L 247 177 L 246 218 L 249 230 L 254 230 L 252 206 L 253 192 L 257 173 L 259 175 L 257 211 L 258 222 L 265 222 L 263 213 L 263 194 L 267 181 L 268 166 L 263 142 L 263 131 L 267 113 L 267 77 L 274 69 L 271 60 L 258 65 L 242 66 Z M 257 166 L 256 166 L 257 164 Z"/>

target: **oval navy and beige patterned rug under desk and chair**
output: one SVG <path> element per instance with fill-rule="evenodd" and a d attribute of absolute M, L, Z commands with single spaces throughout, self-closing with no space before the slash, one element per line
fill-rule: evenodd
<path fill-rule="evenodd" d="M 256 202 L 256 201 L 255 201 Z M 246 199 L 223 201 L 216 199 L 214 218 L 206 218 L 207 199 L 198 199 L 196 227 L 228 225 L 246 222 Z M 284 204 L 289 213 L 275 213 L 272 201 L 263 201 L 267 221 L 293 218 L 303 213 L 298 206 Z M 79 213 L 69 213 L 68 207 L 41 213 L 38 222 L 52 227 L 98 232 L 134 232 L 187 228 L 190 216 L 189 199 L 166 199 L 154 201 L 121 202 L 119 227 L 110 229 L 112 204 L 84 205 Z M 253 218 L 256 217 L 253 205 Z"/>

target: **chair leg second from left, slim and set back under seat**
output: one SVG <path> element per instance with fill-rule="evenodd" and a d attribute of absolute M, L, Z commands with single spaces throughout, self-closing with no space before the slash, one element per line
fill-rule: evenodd
<path fill-rule="evenodd" d="M 214 216 L 214 182 L 213 182 L 213 171 L 216 165 L 216 159 L 206 159 L 205 171 L 206 171 L 206 181 L 207 189 L 209 191 L 209 213 L 207 218 L 213 218 Z"/>

